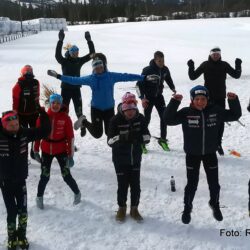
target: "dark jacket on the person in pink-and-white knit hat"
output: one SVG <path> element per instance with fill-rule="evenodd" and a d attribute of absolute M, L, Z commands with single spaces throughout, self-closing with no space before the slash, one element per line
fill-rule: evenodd
<path fill-rule="evenodd" d="M 142 143 L 148 143 L 150 133 L 144 116 L 126 120 L 121 111 L 109 123 L 108 144 L 112 147 L 112 159 L 116 165 L 137 165 L 141 163 Z"/>

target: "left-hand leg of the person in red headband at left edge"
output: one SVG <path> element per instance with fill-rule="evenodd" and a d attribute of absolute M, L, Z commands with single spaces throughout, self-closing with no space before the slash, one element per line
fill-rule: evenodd
<path fill-rule="evenodd" d="M 14 240 L 16 232 L 17 204 L 15 200 L 15 187 L 11 181 L 3 181 L 1 185 L 4 204 L 7 210 L 8 237 Z"/>

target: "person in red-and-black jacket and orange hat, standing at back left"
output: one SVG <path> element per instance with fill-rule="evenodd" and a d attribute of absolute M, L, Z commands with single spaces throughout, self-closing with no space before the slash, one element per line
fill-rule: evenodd
<path fill-rule="evenodd" d="M 40 83 L 33 74 L 33 68 L 25 65 L 21 69 L 21 77 L 12 88 L 12 108 L 18 114 L 19 123 L 24 128 L 36 127 L 39 116 Z M 33 143 L 30 149 L 30 157 L 34 159 Z"/>

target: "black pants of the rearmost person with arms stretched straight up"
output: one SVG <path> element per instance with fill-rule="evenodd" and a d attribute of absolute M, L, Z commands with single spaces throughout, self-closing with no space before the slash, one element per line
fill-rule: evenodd
<path fill-rule="evenodd" d="M 63 98 L 63 104 L 69 107 L 70 100 L 73 100 L 76 116 L 79 118 L 82 115 L 82 95 L 81 89 L 67 89 L 62 88 L 61 96 Z"/>

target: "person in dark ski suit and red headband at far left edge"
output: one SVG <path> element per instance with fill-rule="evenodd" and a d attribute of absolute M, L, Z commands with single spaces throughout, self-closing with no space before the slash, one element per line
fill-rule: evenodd
<path fill-rule="evenodd" d="M 38 113 L 39 128 L 21 127 L 17 113 L 12 110 L 4 112 L 0 119 L 0 188 L 7 210 L 8 250 L 17 246 L 29 248 L 26 238 L 28 143 L 46 137 L 51 129 L 46 112 L 39 107 Z"/>

